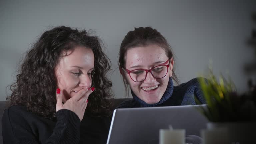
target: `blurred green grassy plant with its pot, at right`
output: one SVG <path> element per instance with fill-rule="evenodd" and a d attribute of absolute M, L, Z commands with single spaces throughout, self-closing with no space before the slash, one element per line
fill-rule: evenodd
<path fill-rule="evenodd" d="M 225 127 L 229 133 L 229 141 L 247 144 L 256 143 L 256 86 L 238 94 L 234 83 L 220 76 L 219 80 L 210 70 L 210 74 L 199 79 L 207 107 L 199 110 L 210 121 L 208 129 Z"/>

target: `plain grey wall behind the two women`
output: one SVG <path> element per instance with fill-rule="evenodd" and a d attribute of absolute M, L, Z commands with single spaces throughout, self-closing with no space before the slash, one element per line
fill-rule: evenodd
<path fill-rule="evenodd" d="M 152 26 L 168 40 L 176 55 L 176 72 L 186 82 L 207 70 L 229 71 L 240 92 L 247 90 L 243 66 L 255 58 L 246 45 L 255 28 L 253 0 L 2 0 L 0 1 L 0 100 L 15 79 L 22 55 L 46 29 L 66 25 L 92 29 L 105 42 L 106 53 L 117 68 L 125 34 L 134 27 Z M 49 27 L 51 26 L 51 27 Z M 124 97 L 118 69 L 111 76 L 115 97 Z"/>

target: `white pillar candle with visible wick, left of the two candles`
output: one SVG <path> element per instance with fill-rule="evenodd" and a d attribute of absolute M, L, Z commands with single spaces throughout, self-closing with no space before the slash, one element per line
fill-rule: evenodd
<path fill-rule="evenodd" d="M 159 144 L 183 144 L 185 143 L 185 129 L 160 129 Z"/>

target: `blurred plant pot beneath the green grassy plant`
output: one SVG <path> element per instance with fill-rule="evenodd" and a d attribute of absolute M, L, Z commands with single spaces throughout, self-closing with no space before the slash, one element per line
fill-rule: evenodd
<path fill-rule="evenodd" d="M 256 143 L 256 122 L 209 122 L 207 129 L 224 128 L 227 130 L 229 144 Z"/>

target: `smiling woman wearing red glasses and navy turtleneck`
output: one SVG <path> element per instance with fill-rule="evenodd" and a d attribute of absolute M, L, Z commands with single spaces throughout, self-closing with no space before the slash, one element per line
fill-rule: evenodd
<path fill-rule="evenodd" d="M 178 84 L 174 62 L 170 45 L 156 29 L 128 32 L 120 46 L 119 70 L 133 99 L 118 108 L 205 104 L 197 78 L 173 85 Z"/>

